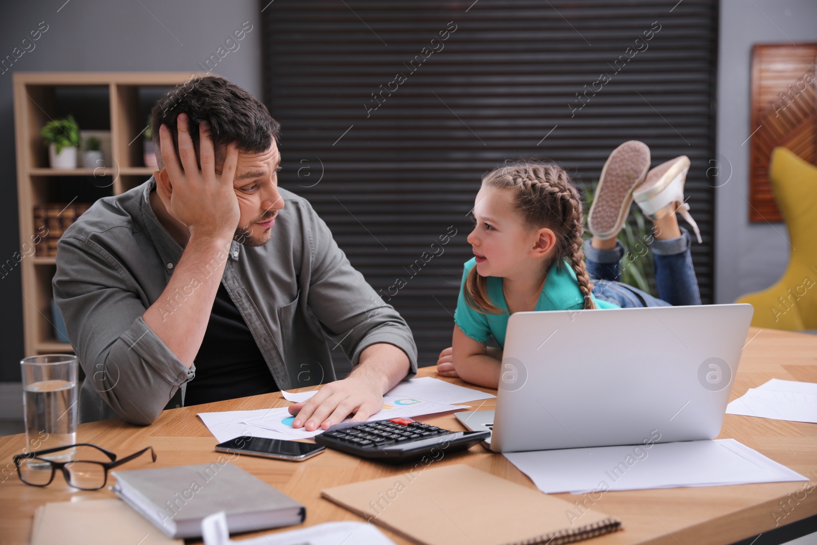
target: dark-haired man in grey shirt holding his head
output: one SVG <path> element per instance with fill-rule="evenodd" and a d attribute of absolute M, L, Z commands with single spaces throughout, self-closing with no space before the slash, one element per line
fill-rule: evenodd
<path fill-rule="evenodd" d="M 417 347 L 306 199 L 279 189 L 279 123 L 208 76 L 163 96 L 153 128 L 154 176 L 97 201 L 58 246 L 54 297 L 87 375 L 81 421 L 149 424 L 322 382 L 290 408 L 294 427 L 376 413 L 417 372 Z M 326 337 L 349 377 L 335 380 Z"/>

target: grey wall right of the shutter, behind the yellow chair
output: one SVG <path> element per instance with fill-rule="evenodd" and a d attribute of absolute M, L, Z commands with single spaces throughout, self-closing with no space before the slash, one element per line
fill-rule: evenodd
<path fill-rule="evenodd" d="M 815 0 L 721 1 L 717 183 L 724 185 L 716 195 L 716 302 L 768 288 L 788 263 L 786 226 L 748 221 L 749 143 L 743 142 L 757 128 L 749 127 L 752 44 L 815 41 Z"/>

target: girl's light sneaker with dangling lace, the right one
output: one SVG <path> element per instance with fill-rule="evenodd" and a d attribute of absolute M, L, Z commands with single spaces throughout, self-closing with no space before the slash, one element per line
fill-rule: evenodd
<path fill-rule="evenodd" d="M 681 214 L 694 230 L 698 243 L 702 243 L 701 231 L 690 216 L 690 205 L 684 199 L 684 181 L 689 170 L 690 158 L 686 155 L 661 163 L 647 173 L 644 183 L 632 196 L 641 212 L 651 220 L 668 214 Z"/>

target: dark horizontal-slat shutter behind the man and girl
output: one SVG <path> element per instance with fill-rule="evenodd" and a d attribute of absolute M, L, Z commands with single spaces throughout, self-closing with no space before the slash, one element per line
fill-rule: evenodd
<path fill-rule="evenodd" d="M 466 215 L 506 159 L 554 159 L 587 183 L 629 139 L 653 164 L 688 155 L 704 239 L 693 259 L 712 302 L 714 0 L 275 0 L 262 16 L 281 185 L 310 200 L 374 288 L 395 286 L 385 298 L 421 365 L 451 342 Z M 449 226 L 457 235 L 432 248 Z"/>

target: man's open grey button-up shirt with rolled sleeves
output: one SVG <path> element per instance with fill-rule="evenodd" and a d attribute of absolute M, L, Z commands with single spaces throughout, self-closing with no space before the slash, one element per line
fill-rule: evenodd
<path fill-rule="evenodd" d="M 160 298 L 162 315 L 172 314 L 197 285 L 162 297 L 184 250 L 150 206 L 155 186 L 151 177 L 96 201 L 58 243 L 54 298 L 87 375 L 81 422 L 118 415 L 149 424 L 166 406 L 183 404 L 185 383 L 195 376 L 195 363 L 188 369 L 142 319 Z M 367 346 L 398 346 L 413 377 L 417 346 L 408 324 L 351 266 L 310 203 L 279 191 L 285 206 L 270 241 L 254 248 L 233 242 L 201 273 L 226 261 L 221 284 L 275 383 L 287 389 L 336 380 L 328 343 L 341 346 L 353 366 Z"/>

